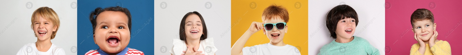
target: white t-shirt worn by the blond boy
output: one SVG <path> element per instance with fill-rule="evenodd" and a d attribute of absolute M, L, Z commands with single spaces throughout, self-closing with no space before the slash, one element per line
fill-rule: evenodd
<path fill-rule="evenodd" d="M 64 52 L 64 49 L 55 44 L 51 44 L 51 47 L 47 50 L 47 52 L 38 51 L 34 42 L 21 47 L 16 55 L 66 55 L 66 53 Z"/>

